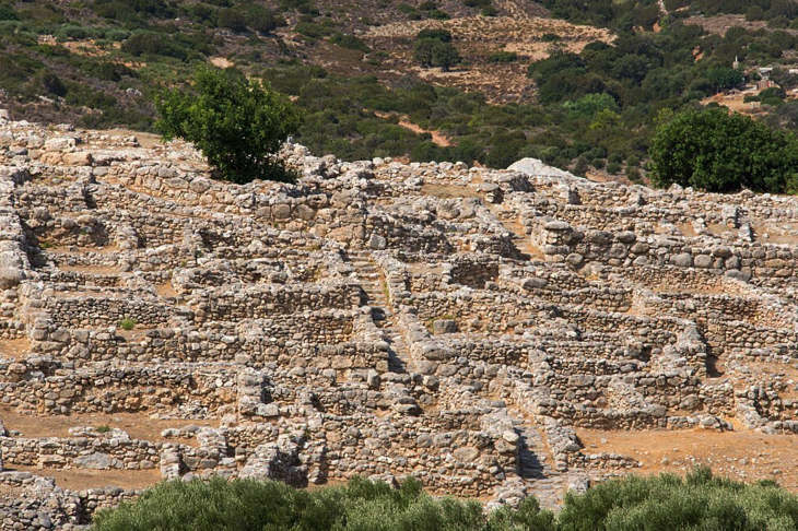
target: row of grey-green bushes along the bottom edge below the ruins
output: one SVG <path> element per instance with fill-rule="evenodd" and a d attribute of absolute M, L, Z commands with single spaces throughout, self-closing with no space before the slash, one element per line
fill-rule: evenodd
<path fill-rule="evenodd" d="M 401 488 L 355 477 L 347 486 L 300 491 L 278 482 L 173 481 L 132 504 L 101 510 L 93 531 L 787 531 L 798 498 L 772 482 L 755 485 L 699 469 L 627 476 L 568 494 L 555 518 L 535 498 L 482 514 L 480 504 L 433 498 L 412 479 Z"/>

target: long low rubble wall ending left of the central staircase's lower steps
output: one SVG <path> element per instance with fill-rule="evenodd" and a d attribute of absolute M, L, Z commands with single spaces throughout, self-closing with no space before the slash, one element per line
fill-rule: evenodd
<path fill-rule="evenodd" d="M 47 349 L 37 351 L 81 362 L 171 359 L 233 362 L 263 365 L 374 368 L 387 356 L 374 340 L 375 331 L 361 323 L 366 316 L 351 310 L 321 310 L 298 316 L 227 323 L 214 329 L 169 327 L 122 331 L 56 329 L 48 332 Z M 373 324 L 372 324 L 373 326 Z M 249 333 L 257 330 L 257 333 Z M 371 332 L 371 333 L 369 333 Z M 20 332 L 24 334 L 24 329 Z"/>

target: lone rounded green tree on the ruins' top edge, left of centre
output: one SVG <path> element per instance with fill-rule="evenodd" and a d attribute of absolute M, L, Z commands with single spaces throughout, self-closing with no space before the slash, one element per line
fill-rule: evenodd
<path fill-rule="evenodd" d="M 271 86 L 200 68 L 192 91 L 165 91 L 155 101 L 165 140 L 193 144 L 222 179 L 291 181 L 277 153 L 300 127 L 294 106 Z"/>

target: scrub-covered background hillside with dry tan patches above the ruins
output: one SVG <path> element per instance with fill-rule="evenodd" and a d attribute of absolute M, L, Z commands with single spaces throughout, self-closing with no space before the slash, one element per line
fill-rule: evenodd
<path fill-rule="evenodd" d="M 747 83 L 784 66 L 772 78 L 786 93 L 754 107 L 798 126 L 796 14 L 770 0 L 4 1 L 0 103 L 15 119 L 149 131 L 155 94 L 212 62 L 291 95 L 306 113 L 296 140 L 316 153 L 531 156 L 645 181 L 659 113 L 711 102 L 736 58 Z M 424 66 L 422 31 L 451 64 Z"/>

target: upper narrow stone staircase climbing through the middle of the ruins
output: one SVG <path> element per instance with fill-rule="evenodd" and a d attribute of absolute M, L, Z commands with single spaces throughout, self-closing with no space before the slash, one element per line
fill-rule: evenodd
<path fill-rule="evenodd" d="M 372 308 L 374 324 L 383 331 L 388 343 L 388 369 L 391 373 L 409 373 L 413 368 L 410 349 L 399 332 L 388 290 L 377 266 L 367 252 L 351 252 L 350 258 L 365 293 L 364 305 Z"/>

